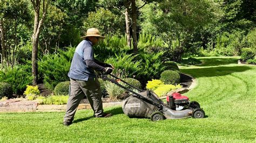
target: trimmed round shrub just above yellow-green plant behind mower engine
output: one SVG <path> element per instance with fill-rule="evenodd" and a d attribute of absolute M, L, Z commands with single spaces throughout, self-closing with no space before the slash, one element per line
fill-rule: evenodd
<path fill-rule="evenodd" d="M 165 84 L 177 85 L 180 83 L 180 75 L 176 70 L 165 70 L 161 73 L 160 80 Z"/>

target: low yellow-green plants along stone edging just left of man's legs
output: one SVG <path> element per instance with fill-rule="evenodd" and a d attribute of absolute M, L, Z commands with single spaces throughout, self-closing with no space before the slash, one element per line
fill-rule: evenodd
<path fill-rule="evenodd" d="M 39 99 L 42 99 L 42 97 L 39 97 Z M 43 98 L 42 104 L 56 104 L 56 105 L 63 105 L 68 103 L 69 96 L 48 96 L 46 98 Z"/>

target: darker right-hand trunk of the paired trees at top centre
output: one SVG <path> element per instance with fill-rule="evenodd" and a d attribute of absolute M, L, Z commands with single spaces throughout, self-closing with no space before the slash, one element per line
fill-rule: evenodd
<path fill-rule="evenodd" d="M 133 53 L 138 53 L 138 43 L 137 43 L 137 6 L 136 0 L 131 1 L 132 5 L 132 45 L 133 45 Z"/>

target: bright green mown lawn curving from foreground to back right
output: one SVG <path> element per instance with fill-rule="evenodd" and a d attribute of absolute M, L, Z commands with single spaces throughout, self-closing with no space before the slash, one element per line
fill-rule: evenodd
<path fill-rule="evenodd" d="M 0 142 L 255 142 L 256 66 L 237 65 L 238 57 L 199 58 L 203 65 L 181 67 L 196 77 L 187 92 L 206 112 L 204 119 L 152 122 L 129 118 L 120 106 L 111 118 L 79 110 L 74 123 L 62 125 L 64 112 L 0 113 Z"/>

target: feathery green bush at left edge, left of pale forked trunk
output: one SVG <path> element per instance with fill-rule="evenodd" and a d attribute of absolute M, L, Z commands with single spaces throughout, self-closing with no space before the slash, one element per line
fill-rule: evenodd
<path fill-rule="evenodd" d="M 15 66 L 0 70 L 0 81 L 9 83 L 14 94 L 22 95 L 26 85 L 32 84 L 31 64 Z"/>

